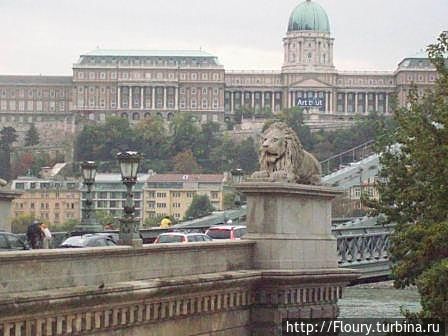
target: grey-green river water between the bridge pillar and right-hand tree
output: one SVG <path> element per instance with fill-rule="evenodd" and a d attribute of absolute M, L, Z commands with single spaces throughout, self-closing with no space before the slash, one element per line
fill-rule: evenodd
<path fill-rule="evenodd" d="M 420 310 L 420 297 L 415 288 L 394 289 L 392 282 L 347 287 L 339 300 L 344 318 L 399 318 L 400 309 Z"/>

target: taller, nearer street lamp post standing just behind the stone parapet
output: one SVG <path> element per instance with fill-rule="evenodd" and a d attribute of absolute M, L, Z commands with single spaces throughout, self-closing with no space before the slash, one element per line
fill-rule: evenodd
<path fill-rule="evenodd" d="M 135 220 L 135 203 L 132 192 L 132 188 L 137 183 L 137 172 L 141 158 L 141 155 L 137 152 L 120 152 L 117 154 L 121 180 L 127 190 L 124 216 L 120 219 L 119 244 L 133 247 L 139 247 L 143 244 L 139 233 L 139 223 Z"/>

